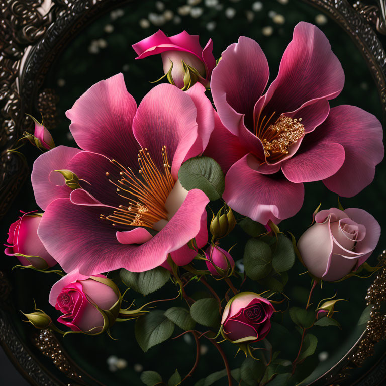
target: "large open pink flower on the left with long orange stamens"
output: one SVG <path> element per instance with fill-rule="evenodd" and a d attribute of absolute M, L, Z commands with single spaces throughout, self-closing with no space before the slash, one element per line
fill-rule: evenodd
<path fill-rule="evenodd" d="M 66 115 L 83 151 L 59 146 L 34 164 L 32 184 L 45 209 L 39 236 L 66 272 L 91 276 L 126 268 L 142 272 L 168 254 L 185 265 L 186 243 L 207 242 L 208 203 L 177 181 L 179 167 L 202 153 L 213 130 L 213 107 L 197 83 L 183 92 L 154 87 L 138 109 L 122 74 L 94 84 Z M 54 170 L 80 179 L 72 190 Z"/>

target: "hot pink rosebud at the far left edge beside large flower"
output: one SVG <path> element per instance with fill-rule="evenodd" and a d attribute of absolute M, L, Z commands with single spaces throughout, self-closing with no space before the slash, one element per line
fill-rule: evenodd
<path fill-rule="evenodd" d="M 38 226 L 42 214 L 25 213 L 11 224 L 8 232 L 5 254 L 16 256 L 24 266 L 36 269 L 46 269 L 56 264 L 54 258 L 47 252 L 38 236 Z"/>

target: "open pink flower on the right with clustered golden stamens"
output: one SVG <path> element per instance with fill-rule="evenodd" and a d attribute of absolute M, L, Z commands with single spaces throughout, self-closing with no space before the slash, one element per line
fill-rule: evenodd
<path fill-rule="evenodd" d="M 367 186 L 383 158 L 382 127 L 354 106 L 330 110 L 344 73 L 322 31 L 299 23 L 262 95 L 268 77 L 260 46 L 244 36 L 213 71 L 219 119 L 205 154 L 227 172 L 226 203 L 262 224 L 278 223 L 300 210 L 304 182 L 322 180 L 344 197 Z"/>

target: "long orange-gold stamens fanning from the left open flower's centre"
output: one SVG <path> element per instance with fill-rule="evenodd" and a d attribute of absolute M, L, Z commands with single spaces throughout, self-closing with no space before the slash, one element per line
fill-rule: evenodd
<path fill-rule="evenodd" d="M 126 226 L 142 226 L 153 228 L 160 220 L 168 220 L 165 202 L 174 187 L 174 180 L 170 172 L 171 166 L 167 159 L 166 146 L 162 149 L 163 168 L 160 169 L 152 160 L 147 148 L 138 153 L 139 175 L 132 169 L 122 166 L 118 161 L 110 160 L 118 167 L 120 179 L 109 181 L 117 186 L 117 194 L 127 200 L 111 215 L 101 215 L 116 224 Z M 110 177 L 109 173 L 106 173 Z"/>

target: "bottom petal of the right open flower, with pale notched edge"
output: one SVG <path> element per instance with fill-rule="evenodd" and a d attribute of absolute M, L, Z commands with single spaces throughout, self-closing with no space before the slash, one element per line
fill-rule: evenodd
<path fill-rule="evenodd" d="M 280 173 L 265 175 L 248 164 L 250 154 L 237 161 L 225 177 L 223 199 L 236 212 L 261 224 L 294 216 L 302 207 L 302 183 L 287 181 Z"/>

